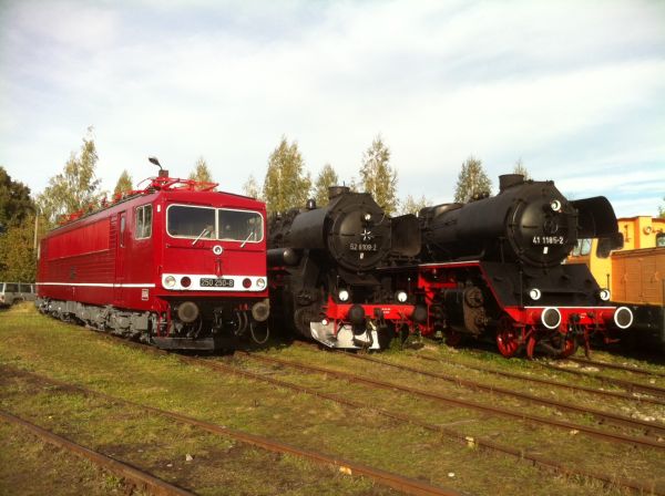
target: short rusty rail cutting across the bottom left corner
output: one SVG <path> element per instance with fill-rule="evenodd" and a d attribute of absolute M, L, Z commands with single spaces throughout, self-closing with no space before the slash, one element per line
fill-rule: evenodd
<path fill-rule="evenodd" d="M 127 480 L 131 480 L 132 484 L 136 485 L 137 487 L 144 487 L 149 489 L 154 495 L 192 496 L 194 494 L 186 489 L 182 489 L 177 486 L 174 486 L 173 484 L 170 484 L 165 480 L 162 480 L 161 478 L 157 478 L 124 462 L 120 462 L 102 453 L 95 452 L 85 446 L 76 444 L 73 441 L 68 440 L 66 437 L 62 437 L 58 434 L 47 431 L 45 428 L 34 425 L 3 410 L 0 410 L 0 420 L 7 422 L 8 424 L 24 427 L 42 441 L 66 450 L 72 454 L 79 456 L 80 458 L 90 461 L 95 465 L 99 465 L 120 477 L 124 477 Z"/>

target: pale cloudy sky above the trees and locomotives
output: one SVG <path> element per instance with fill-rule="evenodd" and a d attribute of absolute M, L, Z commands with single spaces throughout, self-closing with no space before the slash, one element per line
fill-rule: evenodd
<path fill-rule="evenodd" d="M 0 165 L 38 194 L 93 126 L 98 176 L 316 178 L 380 135 L 398 193 L 452 202 L 474 156 L 618 216 L 665 206 L 665 1 L 0 0 Z"/>

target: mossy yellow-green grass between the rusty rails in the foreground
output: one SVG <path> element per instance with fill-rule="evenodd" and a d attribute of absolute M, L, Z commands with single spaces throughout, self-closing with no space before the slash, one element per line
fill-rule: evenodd
<path fill-rule="evenodd" d="M 270 353 L 326 366 L 336 364 L 341 369 L 358 365 L 351 364 L 349 358 L 299 347 L 278 347 Z M 409 360 L 409 352 L 391 352 L 390 358 Z M 580 483 L 567 477 L 552 477 L 549 472 L 515 458 L 469 448 L 439 433 L 386 420 L 371 409 L 350 410 L 262 382 L 185 365 L 172 355 L 155 355 L 123 347 L 92 331 L 39 316 L 27 306 L 0 316 L 2 363 L 473 494 L 623 494 L 614 487 L 601 487 L 593 480 Z M 243 366 L 252 365 L 243 362 Z M 428 422 L 446 424 L 472 420 L 474 422 L 457 424 L 456 428 L 459 426 L 472 435 L 501 443 L 524 445 L 553 457 L 565 453 L 571 462 L 589 462 L 589 466 L 597 465 L 602 469 L 624 467 L 649 474 L 664 473 L 662 457 L 651 459 L 645 456 L 648 459 L 642 461 L 635 453 L 610 448 L 603 452 L 598 450 L 602 444 L 577 442 L 579 437 L 571 443 L 570 436 L 562 436 L 560 432 L 513 428 L 519 423 L 389 391 L 350 385 L 321 375 L 287 369 L 257 370 L 357 399 L 368 405 L 419 415 Z M 375 364 L 367 364 L 364 373 L 381 378 L 391 374 Z M 399 380 L 422 389 L 443 388 L 431 379 L 405 375 Z M 3 384 L 1 391 L 3 407 L 32 415 L 49 428 L 60 428 L 80 440 L 98 443 L 110 453 L 146 464 L 165 477 L 182 477 L 178 480 L 194 485 L 203 494 L 234 494 L 224 493 L 229 490 L 228 487 L 245 494 L 385 492 L 362 478 L 321 469 L 293 457 L 276 457 L 237 443 L 229 445 L 228 440 L 211 437 L 108 402 L 62 394 L 57 390 L 35 391 L 33 384 L 21 381 Z M 468 394 L 459 388 L 450 391 Z M 186 462 L 187 454 L 194 456 L 194 463 Z M 233 469 L 224 472 L 226 466 Z M 270 469 L 266 471 L 266 467 Z M 262 472 L 265 476 L 257 476 Z M 450 473 L 454 476 L 450 477 Z"/>

